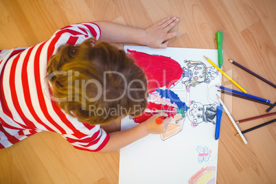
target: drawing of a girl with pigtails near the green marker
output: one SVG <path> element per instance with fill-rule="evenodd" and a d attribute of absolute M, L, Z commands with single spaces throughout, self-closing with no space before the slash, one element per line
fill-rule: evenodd
<path fill-rule="evenodd" d="M 186 67 L 183 67 L 183 73 L 181 76 L 182 84 L 185 84 L 187 92 L 189 92 L 190 87 L 196 87 L 200 83 L 209 83 L 214 80 L 214 76 L 218 76 L 218 70 L 215 67 L 207 67 L 200 60 L 184 60 Z"/>

